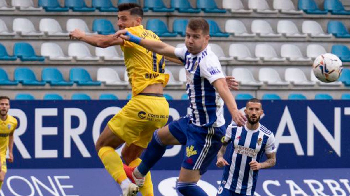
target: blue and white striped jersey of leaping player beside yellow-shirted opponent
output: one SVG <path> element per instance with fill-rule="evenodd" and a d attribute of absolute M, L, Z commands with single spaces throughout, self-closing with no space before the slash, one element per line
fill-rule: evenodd
<path fill-rule="evenodd" d="M 186 69 L 187 94 L 192 113 L 191 121 L 196 126 L 221 127 L 225 124 L 223 116 L 224 101 L 212 83 L 225 78 L 219 59 L 207 46 L 198 54 L 191 54 L 186 46 L 175 49 L 175 55 Z"/>

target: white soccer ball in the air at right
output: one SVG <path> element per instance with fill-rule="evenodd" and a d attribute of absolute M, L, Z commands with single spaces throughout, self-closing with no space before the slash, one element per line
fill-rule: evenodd
<path fill-rule="evenodd" d="M 322 82 L 334 82 L 342 73 L 342 61 L 338 56 L 330 53 L 317 56 L 312 65 L 316 78 Z"/>

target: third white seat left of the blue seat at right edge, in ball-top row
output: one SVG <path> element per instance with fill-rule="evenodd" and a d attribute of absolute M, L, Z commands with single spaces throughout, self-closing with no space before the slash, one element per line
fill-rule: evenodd
<path fill-rule="evenodd" d="M 280 58 L 275 49 L 269 44 L 258 44 L 255 46 L 255 56 L 262 59 L 262 61 L 283 62 L 286 58 Z"/>

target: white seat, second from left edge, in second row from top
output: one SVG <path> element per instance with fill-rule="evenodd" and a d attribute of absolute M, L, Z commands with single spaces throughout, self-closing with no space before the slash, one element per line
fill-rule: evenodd
<path fill-rule="evenodd" d="M 27 18 L 15 18 L 12 24 L 13 31 L 19 32 L 21 36 L 43 36 L 44 32 L 37 31 L 33 23 Z"/>

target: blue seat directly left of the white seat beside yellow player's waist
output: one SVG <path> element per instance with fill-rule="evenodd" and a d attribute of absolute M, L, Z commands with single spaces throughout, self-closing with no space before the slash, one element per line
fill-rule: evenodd
<path fill-rule="evenodd" d="M 69 80 L 76 82 L 79 86 L 99 86 L 100 81 L 92 81 L 89 72 L 83 68 L 72 68 L 69 71 Z"/>

